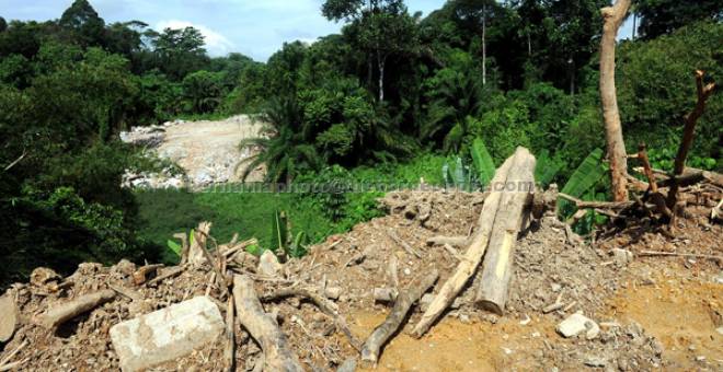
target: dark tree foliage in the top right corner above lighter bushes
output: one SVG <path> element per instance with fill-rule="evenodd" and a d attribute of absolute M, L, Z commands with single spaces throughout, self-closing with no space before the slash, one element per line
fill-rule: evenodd
<path fill-rule="evenodd" d="M 721 0 L 638 0 L 640 34 L 651 39 L 701 20 L 723 20 Z"/>

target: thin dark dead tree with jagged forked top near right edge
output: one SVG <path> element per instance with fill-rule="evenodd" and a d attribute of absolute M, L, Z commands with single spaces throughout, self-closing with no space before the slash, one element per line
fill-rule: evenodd
<path fill-rule="evenodd" d="M 705 111 L 705 103 L 708 98 L 713 94 L 715 89 L 715 83 L 703 84 L 703 71 L 696 71 L 696 86 L 698 93 L 698 103 L 690 114 L 686 116 L 686 127 L 682 132 L 682 141 L 680 142 L 680 148 L 678 149 L 678 154 L 675 158 L 675 167 L 673 171 L 673 184 L 670 185 L 670 191 L 668 191 L 667 205 L 668 208 L 675 208 L 678 201 L 678 188 L 679 183 L 677 177 L 681 176 L 686 170 L 686 159 L 688 158 L 688 152 L 692 146 L 693 137 L 696 133 L 696 124 L 698 119 L 703 115 Z"/>

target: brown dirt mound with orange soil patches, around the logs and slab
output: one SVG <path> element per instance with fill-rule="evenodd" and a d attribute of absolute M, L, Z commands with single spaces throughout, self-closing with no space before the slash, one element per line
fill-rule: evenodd
<path fill-rule="evenodd" d="M 457 248 L 429 245 L 427 241 L 439 235 L 469 236 L 484 198 L 479 193 L 392 193 L 383 200 L 389 216 L 311 247 L 307 257 L 286 263 L 279 277 L 257 274 L 255 263 L 233 269 L 255 279 L 262 300 L 264 294 L 288 287 L 326 293 L 353 335 L 364 339 L 390 310 L 390 304 L 375 301 L 375 289 L 393 287 L 395 281 L 404 288 L 432 269 L 439 271 L 440 282 L 454 272 L 459 259 Z M 700 226 L 696 221 L 684 221 L 688 225 L 680 236 L 690 240 L 684 244 L 686 252 L 720 254 L 722 248 L 716 242 L 723 236 L 721 228 Z M 622 232 L 592 246 L 547 216 L 520 234 L 505 316 L 491 315 L 472 304 L 479 280 L 474 278 L 446 316 L 418 340 L 406 335 L 421 316 L 420 306 L 415 306 L 404 329 L 383 349 L 379 369 L 634 371 L 723 367 L 723 344 L 714 328 L 721 326 L 723 284 L 715 281 L 720 267 L 710 260 L 691 263 L 687 257 L 635 258 L 631 264 L 612 254 L 613 248 L 621 247 L 633 252 L 655 248 L 651 242 L 659 239 L 659 233 L 649 234 L 631 245 L 630 236 Z M 71 277 L 55 279 L 50 286 L 43 280 L 13 286 L 9 292 L 19 306 L 21 326 L 0 359 L 24 344 L 12 358 L 22 361 L 22 370 L 117 370 L 118 357 L 108 337 L 113 325 L 206 293 L 221 313 L 226 312 L 223 292 L 209 284 L 213 269 L 208 265 L 187 267 L 153 286 L 135 286 L 136 269 L 127 261 L 110 268 L 84 264 Z M 174 270 L 177 268 L 162 268 L 158 275 Z M 49 290 L 58 287 L 57 291 Z M 118 295 L 55 333 L 33 322 L 49 306 L 107 288 L 131 293 Z M 338 323 L 313 303 L 295 297 L 263 302 L 265 311 L 276 315 L 306 369 L 335 369 L 358 356 L 340 332 Z M 662 314 L 677 309 L 685 310 L 682 316 L 690 314 L 697 326 Z M 598 323 L 597 337 L 563 338 L 555 332 L 555 326 L 575 312 Z M 710 314 L 708 323 L 697 321 L 704 314 Z M 668 335 L 672 329 L 675 333 Z M 261 365 L 261 348 L 239 324 L 236 344 L 239 371 Z M 219 337 L 186 358 L 152 370 L 220 371 L 222 352 L 223 340 Z"/>

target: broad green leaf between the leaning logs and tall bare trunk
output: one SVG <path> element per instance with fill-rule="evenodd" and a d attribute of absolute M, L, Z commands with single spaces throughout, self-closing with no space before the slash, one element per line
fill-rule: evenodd
<path fill-rule="evenodd" d="M 590 190 L 606 174 L 606 166 L 602 163 L 602 150 L 595 149 L 575 170 L 573 175 L 562 189 L 563 194 L 579 198 Z M 572 202 L 560 198 L 558 200 L 558 213 L 566 219 L 574 213 L 575 207 Z"/>

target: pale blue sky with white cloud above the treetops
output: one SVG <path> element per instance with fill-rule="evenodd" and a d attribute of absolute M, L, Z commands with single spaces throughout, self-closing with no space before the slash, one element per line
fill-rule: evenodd
<path fill-rule="evenodd" d="M 151 27 L 197 27 L 211 56 L 240 51 L 265 61 L 284 42 L 313 42 L 336 33 L 341 24 L 321 15 L 323 0 L 90 0 L 105 22 L 138 20 Z M 72 0 L 0 0 L 5 20 L 46 21 L 60 18 Z M 424 15 L 445 0 L 408 0 L 411 12 Z M 627 30 L 624 30 L 627 28 Z M 629 35 L 626 24 L 622 35 Z"/>

